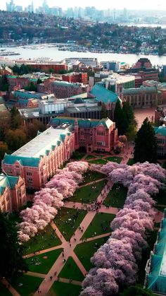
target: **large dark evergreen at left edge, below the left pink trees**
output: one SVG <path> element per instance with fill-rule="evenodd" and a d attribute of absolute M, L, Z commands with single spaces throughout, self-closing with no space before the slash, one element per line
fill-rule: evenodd
<path fill-rule="evenodd" d="M 0 213 L 0 274 L 13 276 L 18 271 L 27 271 L 23 260 L 23 247 L 18 243 L 17 229 L 7 215 Z"/>

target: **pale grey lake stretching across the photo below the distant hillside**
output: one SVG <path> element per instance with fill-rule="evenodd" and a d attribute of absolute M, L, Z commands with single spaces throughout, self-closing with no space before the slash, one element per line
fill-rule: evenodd
<path fill-rule="evenodd" d="M 30 49 L 21 47 L 4 47 L 8 51 L 19 52 L 19 56 L 10 56 L 8 59 L 35 59 L 41 57 L 48 57 L 54 61 L 61 61 L 65 58 L 70 57 L 93 57 L 97 58 L 98 61 L 125 61 L 127 64 L 135 64 L 136 61 L 141 57 L 146 57 L 150 59 L 153 65 L 166 64 L 166 57 L 158 57 L 153 55 L 144 54 L 109 54 L 109 53 L 92 53 L 92 52 L 69 52 L 69 51 L 59 51 L 57 47 L 44 47 L 41 49 Z"/>

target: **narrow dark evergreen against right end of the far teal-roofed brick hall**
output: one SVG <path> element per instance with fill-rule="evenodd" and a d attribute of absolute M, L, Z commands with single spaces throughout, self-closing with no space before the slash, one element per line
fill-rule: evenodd
<path fill-rule="evenodd" d="M 117 100 L 114 111 L 114 121 L 117 127 L 118 135 L 124 135 L 127 132 L 127 117 L 120 105 L 120 100 Z"/>

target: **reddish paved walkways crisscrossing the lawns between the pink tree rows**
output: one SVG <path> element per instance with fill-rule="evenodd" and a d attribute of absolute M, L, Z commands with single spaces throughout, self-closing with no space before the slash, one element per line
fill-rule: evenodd
<path fill-rule="evenodd" d="M 122 155 L 118 155 L 123 158 L 121 163 L 127 163 L 129 158 L 132 158 L 132 150 L 133 150 L 132 146 L 127 145 L 127 147 L 125 148 Z M 82 158 L 82 160 L 85 159 L 87 157 L 87 155 L 84 155 L 84 158 Z M 102 158 L 103 159 L 108 158 L 109 156 L 110 155 L 104 155 Z M 115 156 L 117 156 L 117 155 L 115 155 Z M 101 158 L 100 155 L 98 157 L 96 155 L 94 155 L 94 159 L 98 159 L 98 158 Z M 101 172 L 101 171 L 98 170 L 98 172 Z M 105 173 L 103 173 L 103 174 L 105 174 Z M 103 179 L 106 179 L 106 178 L 103 178 Z M 101 182 L 101 180 L 103 180 L 103 179 L 98 179 L 95 182 Z M 94 182 L 89 182 L 88 184 L 84 184 L 84 185 L 80 186 L 79 188 L 85 187 L 90 184 L 94 184 Z M 99 213 L 111 213 L 111 214 L 116 215 L 117 212 L 119 211 L 118 208 L 113 208 L 113 207 L 106 208 L 106 206 L 104 206 L 102 204 L 103 201 L 105 201 L 106 197 L 108 196 L 108 193 L 112 187 L 113 187 L 113 182 L 108 180 L 107 184 L 103 187 L 103 189 L 101 190 L 101 193 L 98 195 L 96 201 L 101 202 L 101 208 L 98 209 Z M 82 204 L 79 202 L 75 203 L 72 201 L 66 201 L 64 206 L 66 208 L 78 208 L 78 209 L 84 209 L 87 211 L 87 207 L 89 208 L 92 204 L 93 203 L 89 203 L 89 204 L 83 203 Z M 96 215 L 96 211 L 88 211 L 87 212 L 87 215 L 82 220 L 82 223 L 79 225 L 79 227 L 77 228 L 75 233 L 72 235 L 70 242 L 66 241 L 65 237 L 63 237 L 63 234 L 60 232 L 57 225 L 52 221 L 51 227 L 53 228 L 53 230 L 56 231 L 56 235 L 58 235 L 62 244 L 60 244 L 56 247 L 51 247 L 49 249 L 41 250 L 39 252 L 36 252 L 35 254 L 32 253 L 32 254 L 28 254 L 27 256 L 24 256 L 24 258 L 30 258 L 32 256 L 36 256 L 37 254 L 45 254 L 48 251 L 53 251 L 55 249 L 60 249 L 60 248 L 62 248 L 64 251 L 64 257 L 62 255 L 62 253 L 58 256 L 58 259 L 56 259 L 56 261 L 54 262 L 49 273 L 41 274 L 41 273 L 34 273 L 34 272 L 30 272 L 30 271 L 27 272 L 27 275 L 36 276 L 39 278 L 44 278 L 41 285 L 39 286 L 39 291 L 41 291 L 41 292 L 40 292 L 40 294 L 38 293 L 38 291 L 35 292 L 35 294 L 34 294 L 35 296 L 37 296 L 37 295 L 45 296 L 47 294 L 47 292 L 49 292 L 54 281 L 58 280 L 63 283 L 70 283 L 70 279 L 58 277 L 58 275 L 60 274 L 60 271 L 63 269 L 63 266 L 64 266 L 63 259 L 65 259 L 67 261 L 70 256 L 75 261 L 75 263 L 79 267 L 80 271 L 82 271 L 82 274 L 84 276 L 86 276 L 87 271 L 84 268 L 84 266 L 82 265 L 82 262 L 79 260 L 79 258 L 75 254 L 74 249 L 77 246 L 77 244 L 82 244 L 82 242 L 85 242 L 85 240 L 82 239 L 82 235 L 84 235 L 84 232 L 89 227 L 89 225 L 90 225 L 91 221 L 94 219 L 95 215 Z M 161 212 L 159 214 L 159 211 L 158 211 L 158 213 L 155 214 L 155 222 L 160 222 L 159 220 L 161 220 Z M 111 232 L 105 233 L 103 235 L 96 235 L 95 237 L 90 237 L 90 238 L 86 239 L 86 242 L 91 242 L 92 240 L 99 239 L 102 237 L 108 237 L 108 236 L 110 236 L 110 234 L 111 234 Z M 72 280 L 72 284 L 81 285 L 81 282 L 76 281 L 76 280 Z M 18 292 L 16 292 L 12 287 L 9 288 L 9 290 L 10 289 L 13 291 L 12 292 L 13 295 L 19 296 Z"/>

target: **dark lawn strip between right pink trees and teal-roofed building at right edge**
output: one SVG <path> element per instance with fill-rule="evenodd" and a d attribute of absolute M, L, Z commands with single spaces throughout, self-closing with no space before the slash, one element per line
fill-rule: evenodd
<path fill-rule="evenodd" d="M 137 283 L 139 283 L 139 284 L 143 285 L 143 283 L 144 283 L 145 275 L 146 275 L 146 272 L 145 272 L 146 263 L 147 263 L 148 259 L 150 258 L 151 251 L 153 251 L 153 246 L 155 244 L 157 235 L 158 235 L 158 230 L 154 230 L 153 232 L 148 233 L 147 242 L 148 242 L 149 247 L 147 249 L 143 250 L 142 259 L 139 262 L 139 274 L 138 274 L 139 279 L 137 280 Z"/>

